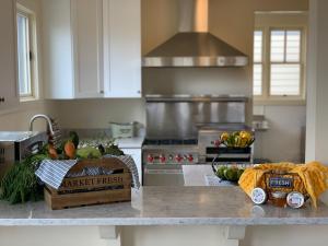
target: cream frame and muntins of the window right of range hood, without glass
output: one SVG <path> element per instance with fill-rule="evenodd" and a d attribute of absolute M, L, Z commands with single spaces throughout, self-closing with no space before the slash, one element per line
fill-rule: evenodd
<path fill-rule="evenodd" d="M 254 95 L 255 104 L 305 104 L 306 98 L 306 33 L 304 25 L 270 25 L 257 26 L 254 32 L 262 32 L 262 94 Z M 298 95 L 271 95 L 271 31 L 301 31 L 300 44 L 300 62 L 281 62 L 281 63 L 300 63 L 300 94 Z"/>

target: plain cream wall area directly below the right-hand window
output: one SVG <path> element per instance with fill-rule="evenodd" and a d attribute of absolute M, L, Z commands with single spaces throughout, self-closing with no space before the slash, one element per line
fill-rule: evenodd
<path fill-rule="evenodd" d="M 255 106 L 270 129 L 256 132 L 255 157 L 272 162 L 303 163 L 305 156 L 305 106 Z"/>

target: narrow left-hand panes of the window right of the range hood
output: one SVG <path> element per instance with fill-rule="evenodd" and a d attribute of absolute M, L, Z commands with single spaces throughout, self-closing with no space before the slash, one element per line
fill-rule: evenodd
<path fill-rule="evenodd" d="M 254 67 L 253 67 L 253 94 L 262 94 L 262 49 L 263 32 L 254 32 Z"/>

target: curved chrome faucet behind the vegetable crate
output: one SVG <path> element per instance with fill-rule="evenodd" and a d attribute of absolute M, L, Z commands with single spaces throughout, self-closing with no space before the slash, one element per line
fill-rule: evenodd
<path fill-rule="evenodd" d="M 61 143 L 61 133 L 58 127 L 58 124 L 55 119 L 51 119 L 47 115 L 35 115 L 30 120 L 30 131 L 33 131 L 33 124 L 36 119 L 43 118 L 47 122 L 47 133 L 49 136 L 49 142 L 52 143 L 55 147 L 59 147 Z"/>

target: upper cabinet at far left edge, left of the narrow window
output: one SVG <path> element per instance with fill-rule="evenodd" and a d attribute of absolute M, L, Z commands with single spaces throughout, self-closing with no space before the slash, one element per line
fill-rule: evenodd
<path fill-rule="evenodd" d="M 2 110 L 19 103 L 15 1 L 0 1 L 0 110 Z"/>

